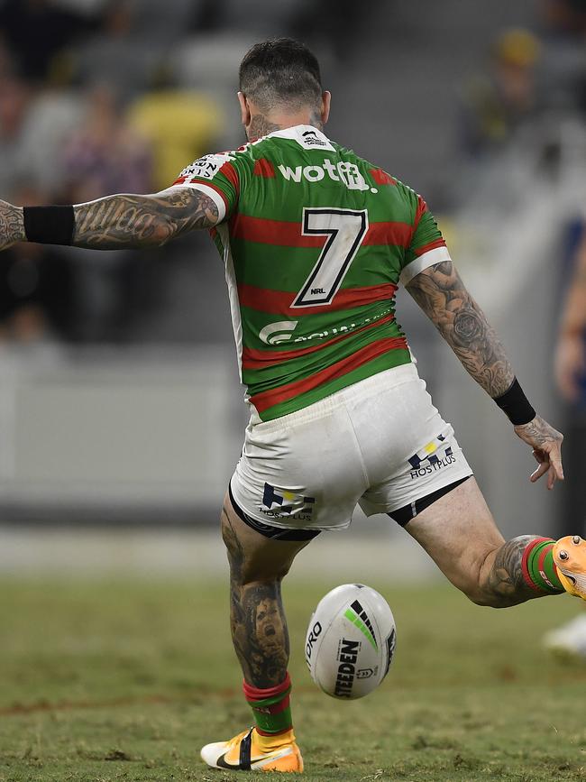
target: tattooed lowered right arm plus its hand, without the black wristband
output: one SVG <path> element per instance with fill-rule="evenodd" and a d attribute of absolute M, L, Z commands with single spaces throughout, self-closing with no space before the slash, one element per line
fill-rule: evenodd
<path fill-rule="evenodd" d="M 466 290 L 453 262 L 436 263 L 420 271 L 407 283 L 407 290 L 453 349 L 466 372 L 492 399 L 499 400 L 506 395 L 515 383 L 515 373 L 499 337 Z M 563 479 L 560 451 L 563 436 L 539 416 L 515 426 L 515 431 L 533 448 L 539 465 L 531 481 L 548 473 L 547 485 L 553 488 L 556 478 Z"/>

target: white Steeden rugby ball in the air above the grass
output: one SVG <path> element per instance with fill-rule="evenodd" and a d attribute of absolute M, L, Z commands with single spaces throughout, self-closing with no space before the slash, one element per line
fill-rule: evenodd
<path fill-rule="evenodd" d="M 381 594 L 364 584 L 336 586 L 317 603 L 307 628 L 311 678 L 333 698 L 362 698 L 389 673 L 396 638 Z"/>

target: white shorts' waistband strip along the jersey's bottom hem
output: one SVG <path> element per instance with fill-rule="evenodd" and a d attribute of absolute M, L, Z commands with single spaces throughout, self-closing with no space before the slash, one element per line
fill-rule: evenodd
<path fill-rule="evenodd" d="M 348 400 L 353 400 L 357 397 L 368 398 L 380 393 L 380 391 L 388 391 L 405 382 L 417 380 L 419 380 L 419 374 L 417 373 L 415 363 L 400 364 L 346 386 L 340 389 L 340 391 L 334 391 L 333 394 L 308 405 L 307 408 L 296 410 L 293 413 L 288 413 L 286 416 L 280 416 L 278 419 L 271 421 L 261 420 L 256 409 L 251 405 L 252 413 L 249 426 L 262 427 L 262 430 L 265 432 L 278 431 L 281 428 L 288 428 L 306 421 L 323 418 L 328 412 L 340 407 Z"/>

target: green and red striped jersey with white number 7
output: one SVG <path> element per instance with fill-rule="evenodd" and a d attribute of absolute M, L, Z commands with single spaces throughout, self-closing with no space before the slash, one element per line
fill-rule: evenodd
<path fill-rule="evenodd" d="M 241 377 L 262 420 L 411 361 L 395 292 L 449 258 L 425 201 L 309 125 L 207 155 Z"/>

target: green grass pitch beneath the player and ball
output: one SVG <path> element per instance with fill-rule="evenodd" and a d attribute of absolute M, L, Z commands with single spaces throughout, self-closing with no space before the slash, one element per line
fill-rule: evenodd
<path fill-rule="evenodd" d="M 444 584 L 373 582 L 397 655 L 377 692 L 343 703 L 316 690 L 302 649 L 334 585 L 284 589 L 307 782 L 586 780 L 586 666 L 539 645 L 578 601 L 498 612 Z M 266 780 L 199 760 L 250 723 L 240 682 L 223 583 L 0 582 L 1 782 Z"/>

